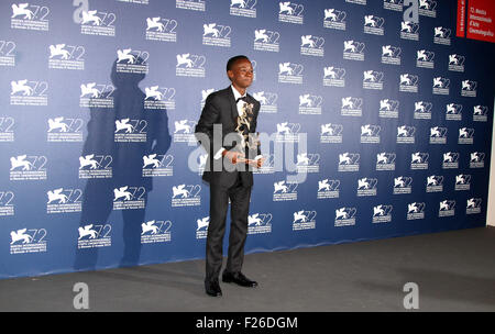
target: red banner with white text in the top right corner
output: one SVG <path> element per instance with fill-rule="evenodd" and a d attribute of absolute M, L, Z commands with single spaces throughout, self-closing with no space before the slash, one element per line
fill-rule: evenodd
<path fill-rule="evenodd" d="M 468 38 L 495 43 L 495 1 L 469 0 L 466 14 Z"/>

